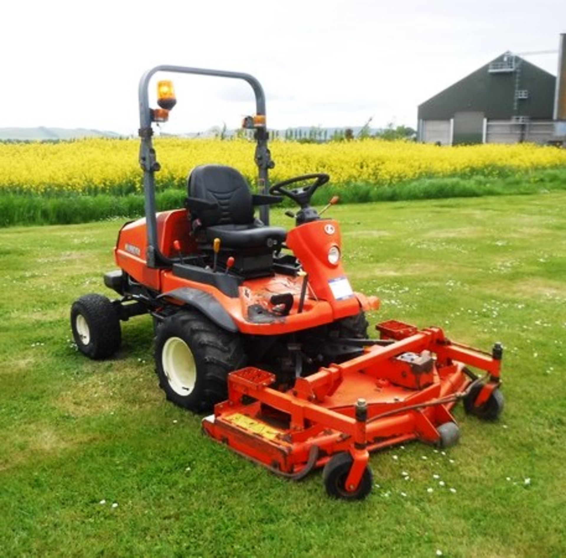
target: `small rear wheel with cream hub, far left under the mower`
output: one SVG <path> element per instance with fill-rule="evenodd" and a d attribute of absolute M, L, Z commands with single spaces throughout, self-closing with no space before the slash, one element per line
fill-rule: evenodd
<path fill-rule="evenodd" d="M 78 350 L 93 360 L 112 356 L 122 342 L 118 314 L 102 295 L 84 295 L 73 303 L 71 330 Z"/>

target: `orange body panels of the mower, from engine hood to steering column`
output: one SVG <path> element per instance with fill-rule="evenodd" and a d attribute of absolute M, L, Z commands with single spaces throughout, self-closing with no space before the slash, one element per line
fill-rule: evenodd
<path fill-rule="evenodd" d="M 160 252 L 166 257 L 176 257 L 174 242 L 187 256 L 198 253 L 190 234 L 190 222 L 186 210 L 164 211 L 157 214 L 157 238 Z M 115 262 L 134 280 L 159 293 L 168 293 L 182 287 L 204 291 L 215 297 L 230 314 L 241 333 L 278 335 L 331 323 L 346 316 L 355 316 L 362 310 L 377 309 L 376 297 L 366 297 L 351 291 L 341 263 L 328 262 L 331 246 L 340 249 L 338 223 L 328 219 L 305 223 L 288 233 L 287 245 L 299 258 L 308 274 L 307 296 L 301 313 L 298 303 L 301 296 L 302 276 L 275 274 L 273 276 L 245 280 L 239 287 L 238 297 L 229 297 L 212 285 L 194 282 L 174 275 L 171 268 L 152 269 L 147 266 L 145 219 L 139 219 L 122 227 L 114 249 Z M 291 293 L 294 303 L 287 316 L 271 323 L 254 323 L 248 320 L 248 308 L 260 305 L 272 308 L 271 297 Z M 175 303 L 175 300 L 171 300 Z M 179 302 L 179 304 L 181 304 Z"/>

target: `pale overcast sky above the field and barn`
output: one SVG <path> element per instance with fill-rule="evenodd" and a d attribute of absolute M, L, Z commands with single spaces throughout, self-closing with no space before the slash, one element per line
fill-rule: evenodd
<path fill-rule="evenodd" d="M 255 75 L 269 127 L 416 127 L 418 104 L 506 50 L 557 50 L 564 32 L 565 0 L 4 2 L 0 127 L 135 133 L 140 75 L 163 63 Z M 525 58 L 556 75 L 557 53 Z M 254 110 L 244 82 L 174 79 L 165 131 Z"/>

